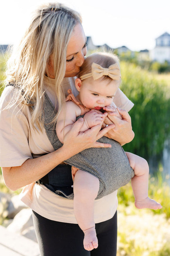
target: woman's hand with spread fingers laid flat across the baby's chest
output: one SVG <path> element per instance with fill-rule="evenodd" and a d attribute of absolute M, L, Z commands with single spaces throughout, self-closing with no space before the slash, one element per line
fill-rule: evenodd
<path fill-rule="evenodd" d="M 115 127 L 113 123 L 103 130 L 101 130 L 102 124 L 98 124 L 85 132 L 80 132 L 83 123 L 84 119 L 79 118 L 79 120 L 73 124 L 72 129 L 64 136 L 63 148 L 67 149 L 67 152 L 70 152 L 69 157 L 90 147 L 111 147 L 110 144 L 99 143 L 96 142 L 96 140 L 113 129 Z M 69 157 L 67 157 L 67 159 Z"/>

